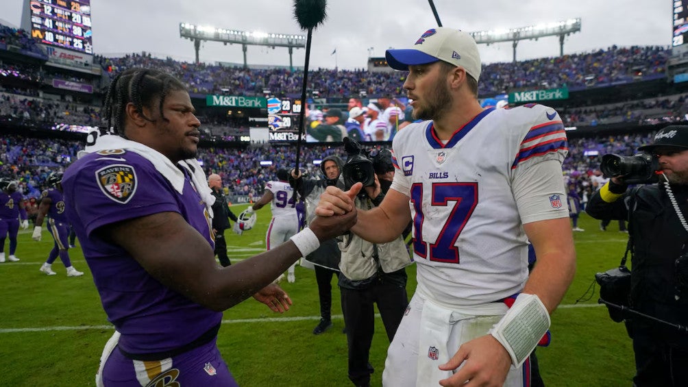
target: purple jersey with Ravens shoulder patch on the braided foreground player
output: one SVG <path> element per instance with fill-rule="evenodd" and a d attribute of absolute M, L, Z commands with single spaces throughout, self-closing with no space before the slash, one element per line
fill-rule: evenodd
<path fill-rule="evenodd" d="M 132 152 L 91 153 L 62 180 L 67 213 L 94 276 L 108 320 L 129 353 L 173 351 L 215 327 L 211 311 L 162 285 L 122 247 L 94 232 L 103 225 L 159 212 L 178 212 L 213 247 L 208 212 L 184 181 L 181 195 L 149 160 Z"/>

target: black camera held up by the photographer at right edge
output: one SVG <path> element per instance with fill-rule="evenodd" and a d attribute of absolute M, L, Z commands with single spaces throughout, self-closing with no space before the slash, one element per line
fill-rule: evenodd
<path fill-rule="evenodd" d="M 659 160 L 649 153 L 639 152 L 633 156 L 614 153 L 602 156 L 600 170 L 605 177 L 623 177 L 625 184 L 652 184 L 659 181 L 655 171 Z"/>

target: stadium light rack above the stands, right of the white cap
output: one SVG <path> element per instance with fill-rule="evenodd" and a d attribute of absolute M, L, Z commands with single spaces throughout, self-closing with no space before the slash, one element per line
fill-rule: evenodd
<path fill-rule="evenodd" d="M 499 42 L 512 42 L 513 62 L 516 63 L 516 46 L 519 41 L 530 41 L 545 36 L 559 36 L 559 56 L 563 56 L 563 40 L 574 32 L 580 32 L 581 18 L 557 21 L 528 27 L 509 28 L 504 30 L 489 30 L 469 32 L 475 39 L 475 43 L 491 45 Z"/>

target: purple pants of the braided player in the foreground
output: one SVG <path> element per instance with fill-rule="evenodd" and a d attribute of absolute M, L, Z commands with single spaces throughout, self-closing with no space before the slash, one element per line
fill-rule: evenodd
<path fill-rule="evenodd" d="M 96 386 L 239 386 L 219 354 L 215 345 L 217 339 L 181 355 L 155 361 L 128 359 L 112 340 L 105 346 L 101 358 L 105 364 L 101 364 L 102 370 L 99 370 L 102 378 L 96 377 Z M 107 355 L 109 347 L 111 352 Z"/>

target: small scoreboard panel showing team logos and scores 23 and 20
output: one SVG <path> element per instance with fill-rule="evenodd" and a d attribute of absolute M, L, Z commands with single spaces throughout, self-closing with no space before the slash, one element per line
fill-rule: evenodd
<path fill-rule="evenodd" d="M 302 108 L 301 100 L 268 98 L 270 142 L 296 142 L 299 139 L 299 116 Z"/>

